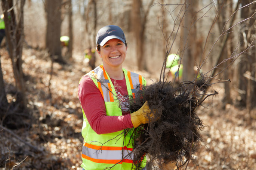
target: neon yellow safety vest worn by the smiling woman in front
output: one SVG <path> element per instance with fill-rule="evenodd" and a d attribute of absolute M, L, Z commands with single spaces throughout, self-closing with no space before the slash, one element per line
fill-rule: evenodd
<path fill-rule="evenodd" d="M 139 87 L 146 85 L 146 80 L 141 75 L 127 71 L 124 68 L 123 72 L 129 95 L 135 94 L 138 85 Z M 99 88 L 105 102 L 107 115 L 121 116 L 122 111 L 119 108 L 117 94 L 103 65 L 96 67 L 86 75 L 90 76 Z M 83 163 L 81 167 L 85 170 L 103 170 L 116 164 L 111 170 L 131 170 L 133 163 L 133 144 L 131 142 L 129 144 L 129 141 L 132 132 L 125 136 L 121 134 L 124 130 L 98 135 L 89 125 L 84 110 L 83 119 L 82 136 L 84 138 L 84 144 L 82 151 Z M 145 161 L 144 158 L 142 167 L 145 167 Z"/>

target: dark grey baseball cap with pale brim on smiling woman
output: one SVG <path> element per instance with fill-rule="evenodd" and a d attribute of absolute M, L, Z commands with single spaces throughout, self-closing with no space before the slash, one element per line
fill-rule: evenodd
<path fill-rule="evenodd" d="M 103 46 L 110 39 L 120 39 L 123 43 L 126 43 L 126 38 L 123 30 L 116 25 L 107 25 L 102 27 L 96 36 L 96 45 Z"/>

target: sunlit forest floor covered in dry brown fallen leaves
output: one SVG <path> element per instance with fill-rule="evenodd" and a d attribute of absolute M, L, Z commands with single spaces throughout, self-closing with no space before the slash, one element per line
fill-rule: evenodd
<path fill-rule="evenodd" d="M 10 122 L 0 128 L 0 170 L 81 170 L 83 116 L 78 82 L 90 68 L 84 66 L 82 55 L 74 54 L 68 65 L 53 63 L 50 78 L 51 61 L 44 51 L 24 49 L 23 53 L 30 110 L 19 120 L 13 119 L 13 125 Z M 4 49 L 0 54 L 11 103 L 15 101 L 12 64 Z M 148 83 L 158 79 L 158 75 L 136 72 Z M 196 153 L 197 161 L 191 161 L 187 170 L 256 170 L 256 110 L 249 117 L 245 108 L 225 105 L 223 109 L 224 90 L 218 84 L 213 89 L 219 94 L 197 109 L 206 127 L 201 131 L 203 142 Z M 235 93 L 232 97 L 235 101 Z M 3 121 L 0 118 L 0 125 Z"/>

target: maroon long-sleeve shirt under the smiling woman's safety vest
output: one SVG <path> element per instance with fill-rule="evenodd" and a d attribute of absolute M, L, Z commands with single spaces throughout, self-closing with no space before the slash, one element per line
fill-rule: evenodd
<path fill-rule="evenodd" d="M 117 92 L 117 97 L 122 103 L 127 102 L 128 95 L 125 78 L 123 80 L 111 81 Z M 89 76 L 83 76 L 78 85 L 78 97 L 86 118 L 97 134 L 107 134 L 132 128 L 131 117 L 125 105 L 122 105 L 122 116 L 107 116 L 104 99 Z"/>

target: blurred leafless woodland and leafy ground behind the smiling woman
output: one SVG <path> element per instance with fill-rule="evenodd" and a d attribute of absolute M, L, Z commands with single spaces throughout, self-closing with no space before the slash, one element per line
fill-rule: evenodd
<path fill-rule="evenodd" d="M 219 94 L 197 113 L 206 128 L 186 169 L 256 169 L 256 1 L 1 0 L 0 169 L 81 170 L 80 78 L 101 64 L 85 60 L 98 30 L 126 34 L 124 67 L 148 84 L 161 80 L 169 54 L 183 76 L 194 66 Z M 62 46 L 61 36 L 70 38 Z M 230 80 L 230 81 L 229 81 Z M 185 169 L 185 167 L 182 167 Z"/>

